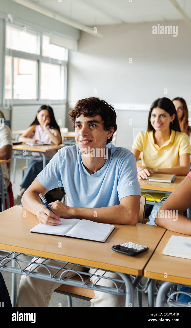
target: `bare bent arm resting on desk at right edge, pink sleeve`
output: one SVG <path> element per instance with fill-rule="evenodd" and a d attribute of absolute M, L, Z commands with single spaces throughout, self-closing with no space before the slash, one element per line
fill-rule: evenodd
<path fill-rule="evenodd" d="M 182 215 L 191 204 L 191 179 L 186 176 L 175 191 L 165 200 L 158 211 L 155 224 L 165 229 L 191 236 L 191 220 Z M 165 211 L 165 218 L 162 210 L 177 210 L 178 213 L 171 215 L 170 211 Z M 170 218 L 169 218 L 170 216 Z M 173 217 L 172 217 L 173 216 Z"/>

